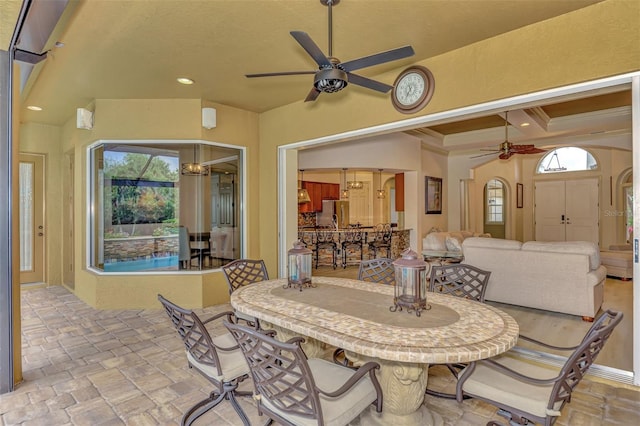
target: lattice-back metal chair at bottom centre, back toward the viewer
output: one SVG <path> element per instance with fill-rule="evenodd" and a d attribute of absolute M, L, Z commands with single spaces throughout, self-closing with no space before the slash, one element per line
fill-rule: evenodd
<path fill-rule="evenodd" d="M 354 371 L 323 359 L 307 359 L 300 346 L 302 337 L 280 342 L 248 327 L 224 325 L 249 365 L 258 413 L 269 417 L 267 424 L 347 425 L 370 405 L 382 411 L 378 363 L 367 362 Z"/>

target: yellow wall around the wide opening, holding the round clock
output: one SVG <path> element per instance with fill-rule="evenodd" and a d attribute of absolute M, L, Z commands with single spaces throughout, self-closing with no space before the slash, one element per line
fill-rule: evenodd
<path fill-rule="evenodd" d="M 640 2 L 605 1 L 422 61 L 434 74 L 436 88 L 418 115 L 637 71 L 639 15 Z M 398 71 L 378 78 L 392 82 Z M 260 252 L 270 269 L 278 263 L 276 148 L 403 118 L 387 98 L 355 91 L 345 93 L 339 103 L 298 102 L 261 114 Z M 295 170 L 287 166 L 288 173 Z M 414 186 L 415 197 L 420 189 Z M 295 207 L 287 204 L 287 217 L 295 217 Z"/>

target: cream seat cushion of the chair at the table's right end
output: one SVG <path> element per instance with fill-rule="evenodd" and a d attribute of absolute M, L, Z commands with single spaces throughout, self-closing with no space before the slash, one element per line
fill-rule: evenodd
<path fill-rule="evenodd" d="M 558 374 L 558 370 L 538 366 L 508 355 L 497 356 L 492 360 L 526 376 L 538 379 L 551 379 Z M 462 374 L 464 373 L 461 372 L 459 377 Z M 509 407 L 512 407 L 541 418 L 545 418 L 547 415 L 559 415 L 557 410 L 562 407 L 562 403 L 557 402 L 553 410 L 547 409 L 553 384 L 525 383 L 482 362 L 476 364 L 475 371 L 464 382 L 462 389 L 473 396 L 494 401 L 497 406 L 507 411 Z"/>

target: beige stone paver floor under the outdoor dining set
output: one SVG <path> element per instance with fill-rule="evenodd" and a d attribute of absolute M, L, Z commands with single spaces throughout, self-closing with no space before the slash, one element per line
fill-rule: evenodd
<path fill-rule="evenodd" d="M 182 343 L 160 306 L 97 311 L 63 287 L 23 291 L 22 306 L 24 382 L 0 396 L 2 425 L 179 424 L 182 413 L 209 393 L 209 382 L 187 367 Z M 431 384 L 449 377 L 434 372 Z M 250 381 L 245 383 L 250 389 Z M 264 423 L 251 399 L 241 404 L 252 424 Z M 425 404 L 445 425 L 503 420 L 479 401 L 458 404 L 428 396 Z M 223 402 L 196 424 L 241 422 Z M 584 380 L 556 424 L 640 424 L 640 390 Z"/>

